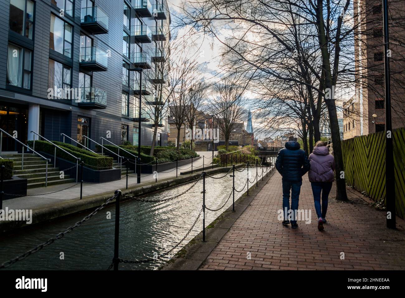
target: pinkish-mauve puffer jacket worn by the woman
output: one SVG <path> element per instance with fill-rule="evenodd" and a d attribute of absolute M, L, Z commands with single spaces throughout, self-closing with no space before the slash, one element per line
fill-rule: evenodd
<path fill-rule="evenodd" d="M 309 163 L 311 169 L 308 172 L 308 178 L 311 182 L 332 182 L 335 178 L 335 159 L 329 154 L 329 148 L 326 146 L 317 146 L 309 154 Z"/>

